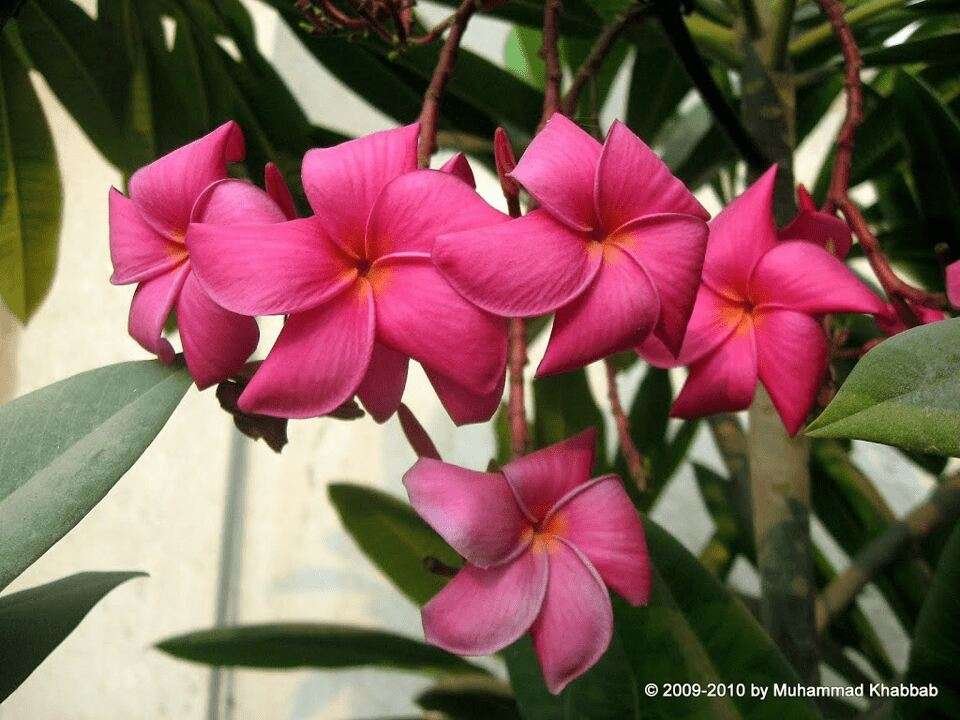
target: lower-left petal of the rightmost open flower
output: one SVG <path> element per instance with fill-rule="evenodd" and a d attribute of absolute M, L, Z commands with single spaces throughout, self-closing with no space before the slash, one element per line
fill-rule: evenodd
<path fill-rule="evenodd" d="M 695 418 L 745 410 L 756 387 L 757 347 L 752 321 L 745 317 L 723 343 L 690 366 L 670 414 Z"/>

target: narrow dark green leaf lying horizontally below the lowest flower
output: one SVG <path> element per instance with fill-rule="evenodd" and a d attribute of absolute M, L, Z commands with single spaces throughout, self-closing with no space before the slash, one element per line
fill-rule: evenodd
<path fill-rule="evenodd" d="M 486 674 L 446 650 L 353 625 L 270 623 L 214 628 L 168 638 L 157 647 L 181 660 L 218 667 L 380 667 L 428 675 Z"/>

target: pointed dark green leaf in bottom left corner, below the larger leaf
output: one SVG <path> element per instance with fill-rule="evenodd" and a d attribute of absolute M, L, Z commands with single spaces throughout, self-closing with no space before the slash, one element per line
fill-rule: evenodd
<path fill-rule="evenodd" d="M 0 702 L 103 597 L 139 572 L 85 572 L 0 597 Z"/>

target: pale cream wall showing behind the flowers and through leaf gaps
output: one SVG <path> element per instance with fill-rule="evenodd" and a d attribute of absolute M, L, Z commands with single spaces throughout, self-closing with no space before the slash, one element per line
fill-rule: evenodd
<path fill-rule="evenodd" d="M 93 13 L 94 0 L 80 3 Z M 351 135 L 392 126 L 330 75 L 303 49 L 276 13 L 246 2 L 260 51 L 283 76 L 311 121 Z M 418 6 L 437 20 L 446 11 Z M 509 26 L 480 16 L 465 47 L 503 64 Z M 623 116 L 630 60 L 621 68 L 601 113 L 604 127 Z M 108 283 L 107 190 L 118 171 L 98 153 L 33 73 L 50 120 L 64 188 L 60 258 L 52 290 L 26 328 L 0 309 L 0 401 L 94 367 L 146 357 L 126 334 L 132 287 Z M 833 107 L 797 154 L 799 181 L 813 183 L 839 122 Z M 438 158 L 438 162 L 446 156 Z M 497 206 L 499 187 L 479 164 L 478 189 Z M 708 190 L 701 200 L 719 205 Z M 278 330 L 263 323 L 260 353 Z M 542 355 L 541 336 L 530 367 Z M 621 377 L 629 402 L 645 366 Z M 600 367 L 588 371 L 591 389 L 607 407 Z M 679 378 L 678 378 L 679 379 Z M 455 429 L 418 366 L 411 367 L 405 401 L 445 459 L 482 468 L 494 453 L 490 424 Z M 410 698 L 427 681 L 381 671 L 313 673 L 217 672 L 154 650 L 161 638 L 215 623 L 309 620 L 356 623 L 422 637 L 417 609 L 405 601 L 355 548 L 326 496 L 331 481 L 351 480 L 394 494 L 413 462 L 394 418 L 377 425 L 298 421 L 290 443 L 274 454 L 233 428 L 212 391 L 192 390 L 160 436 L 67 541 L 24 573 L 11 590 L 74 572 L 143 570 L 150 577 L 119 588 L 97 605 L 63 645 L 0 708 L 0 720 L 103 718 L 373 718 L 414 714 Z M 607 437 L 613 439 L 614 433 Z M 853 457 L 901 515 L 920 501 L 932 479 L 895 451 L 856 443 Z M 720 469 L 705 427 L 690 458 Z M 693 552 L 711 537 L 689 463 L 684 463 L 652 513 Z M 847 562 L 815 524 L 818 547 L 836 567 Z M 753 571 L 738 563 L 730 582 L 757 591 Z M 868 589 L 861 607 L 877 621 L 891 661 L 902 669 L 907 640 L 879 593 Z"/>

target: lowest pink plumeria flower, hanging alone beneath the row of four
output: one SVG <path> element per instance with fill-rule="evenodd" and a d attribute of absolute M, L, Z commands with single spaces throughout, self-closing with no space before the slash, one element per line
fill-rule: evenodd
<path fill-rule="evenodd" d="M 421 458 L 403 482 L 416 511 L 466 559 L 423 608 L 427 641 L 488 655 L 530 632 L 559 693 L 606 652 L 607 586 L 650 597 L 643 526 L 616 475 L 590 479 L 596 432 L 482 473 Z"/>

